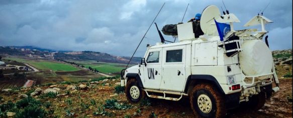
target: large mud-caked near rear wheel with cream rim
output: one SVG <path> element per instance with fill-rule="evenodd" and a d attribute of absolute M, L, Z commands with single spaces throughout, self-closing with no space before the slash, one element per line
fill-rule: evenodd
<path fill-rule="evenodd" d="M 212 84 L 198 84 L 193 87 L 190 105 L 197 117 L 225 117 L 226 107 L 224 95 L 220 94 Z"/>

